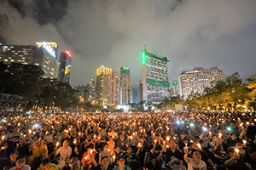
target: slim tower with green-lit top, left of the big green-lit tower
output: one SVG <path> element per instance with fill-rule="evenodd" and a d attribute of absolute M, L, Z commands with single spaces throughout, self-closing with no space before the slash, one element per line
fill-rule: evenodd
<path fill-rule="evenodd" d="M 131 77 L 130 68 L 122 66 L 120 68 L 120 105 L 131 103 Z"/>

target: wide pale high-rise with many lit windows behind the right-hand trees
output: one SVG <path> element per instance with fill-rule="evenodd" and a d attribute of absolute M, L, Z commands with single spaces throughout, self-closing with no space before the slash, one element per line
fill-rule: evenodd
<path fill-rule="evenodd" d="M 195 67 L 192 71 L 183 71 L 179 77 L 180 96 L 188 99 L 189 94 L 204 93 L 205 88 L 209 88 L 211 84 L 218 81 L 224 81 L 224 73 L 217 67 L 204 69 L 203 67 Z"/>

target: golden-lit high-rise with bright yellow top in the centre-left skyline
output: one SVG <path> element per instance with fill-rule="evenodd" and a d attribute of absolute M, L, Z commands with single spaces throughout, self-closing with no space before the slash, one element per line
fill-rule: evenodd
<path fill-rule="evenodd" d="M 96 69 L 96 101 L 99 105 L 108 105 L 108 74 L 112 68 L 102 65 Z"/>

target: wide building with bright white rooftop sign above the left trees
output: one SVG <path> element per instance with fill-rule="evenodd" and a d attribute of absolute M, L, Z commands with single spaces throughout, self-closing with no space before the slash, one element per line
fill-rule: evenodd
<path fill-rule="evenodd" d="M 59 63 L 51 48 L 43 46 L 0 45 L 0 61 L 4 63 L 21 63 L 38 65 L 44 71 L 44 78 L 57 78 Z"/>

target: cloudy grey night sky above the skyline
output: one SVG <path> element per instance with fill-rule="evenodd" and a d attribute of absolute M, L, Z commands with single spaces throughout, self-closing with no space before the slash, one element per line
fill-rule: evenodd
<path fill-rule="evenodd" d="M 96 68 L 131 68 L 142 79 L 141 52 L 167 57 L 169 82 L 195 66 L 256 74 L 255 0 L 1 0 L 0 42 L 57 42 L 73 54 L 71 84 Z M 154 50 L 153 50 L 154 48 Z"/>

